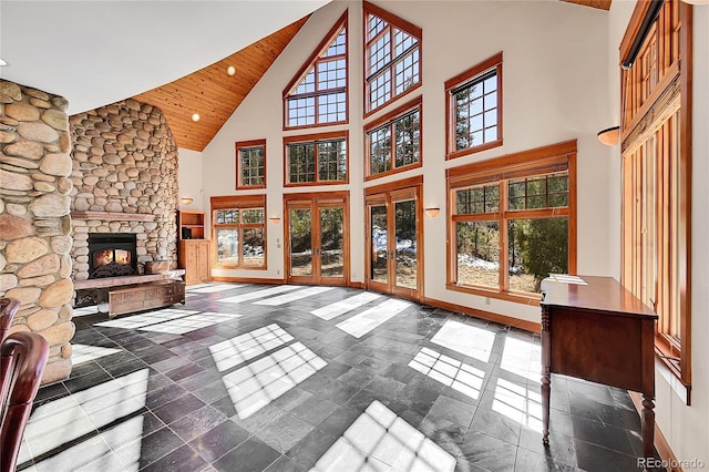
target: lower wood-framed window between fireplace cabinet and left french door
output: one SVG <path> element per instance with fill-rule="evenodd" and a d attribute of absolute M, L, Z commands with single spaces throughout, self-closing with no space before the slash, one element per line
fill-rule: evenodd
<path fill-rule="evenodd" d="M 266 268 L 266 196 L 212 197 L 215 267 Z"/>

